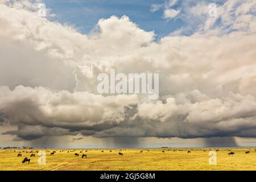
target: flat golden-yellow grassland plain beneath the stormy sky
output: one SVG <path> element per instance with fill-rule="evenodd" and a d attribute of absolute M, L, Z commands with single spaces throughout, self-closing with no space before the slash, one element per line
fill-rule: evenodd
<path fill-rule="evenodd" d="M 216 148 L 46 149 L 46 164 L 38 164 L 40 150 L 0 150 L 0 170 L 256 170 L 255 148 L 219 148 L 217 165 L 209 164 L 209 151 Z M 56 153 L 50 155 L 52 151 Z M 230 151 L 235 154 L 229 156 Z M 30 164 L 22 163 L 25 157 Z"/>

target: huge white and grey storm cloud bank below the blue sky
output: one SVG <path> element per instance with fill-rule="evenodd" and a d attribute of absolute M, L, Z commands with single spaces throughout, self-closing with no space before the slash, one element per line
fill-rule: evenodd
<path fill-rule="evenodd" d="M 0 123 L 18 126 L 5 134 L 26 140 L 255 137 L 254 8 L 240 4 L 236 22 L 245 23 L 236 31 L 224 34 L 225 13 L 225 24 L 214 29 L 155 42 L 154 32 L 127 16 L 101 19 L 98 31 L 84 35 L 30 9 L 0 4 Z M 159 73 L 159 100 L 98 95 L 97 75 L 111 68 Z"/>

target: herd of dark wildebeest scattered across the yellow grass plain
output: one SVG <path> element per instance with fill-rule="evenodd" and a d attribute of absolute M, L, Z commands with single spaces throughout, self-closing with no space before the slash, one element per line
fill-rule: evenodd
<path fill-rule="evenodd" d="M 94 150 L 100 150 L 100 149 L 94 149 Z M 126 149 L 119 149 L 118 151 L 117 150 L 115 150 L 115 152 L 118 152 L 118 155 L 119 156 L 123 156 L 123 153 L 121 152 L 121 151 L 125 151 Z M 201 149 L 201 150 L 203 150 L 203 149 Z M 230 156 L 233 156 L 235 153 L 233 152 L 233 151 L 231 151 L 230 149 L 227 149 L 227 148 L 225 148 L 225 149 L 222 149 L 222 150 L 227 150 L 227 151 L 230 151 L 230 152 L 228 152 L 228 155 Z M 251 148 L 249 149 L 249 150 L 251 150 Z M 12 150 L 6 150 L 6 151 L 3 151 L 3 152 L 8 152 L 8 151 L 12 151 Z M 91 151 L 91 150 L 89 150 L 89 151 Z M 109 152 L 112 152 L 112 150 L 101 150 L 101 152 L 104 152 L 104 151 L 109 151 Z M 161 150 L 160 150 L 161 151 Z M 162 153 L 164 153 L 165 151 L 183 151 L 182 149 L 179 149 L 179 150 L 173 150 L 173 149 L 170 149 L 170 148 L 168 148 L 167 150 L 166 149 L 164 149 L 164 150 L 162 150 Z M 187 153 L 189 154 L 189 153 L 191 153 L 191 151 L 192 151 L 192 149 L 190 149 L 190 150 L 186 150 L 187 151 Z M 207 151 L 207 150 L 203 150 L 204 152 L 205 151 Z M 216 149 L 216 148 L 214 148 L 214 149 L 212 149 L 212 148 L 209 148 L 209 151 L 220 151 L 220 149 Z M 15 150 L 13 151 L 13 152 L 16 152 Z M 18 155 L 17 155 L 17 157 L 22 157 L 22 152 L 23 153 L 31 153 L 31 155 L 30 155 L 30 157 L 32 158 L 32 157 L 35 157 L 35 154 L 34 153 L 38 153 L 39 151 L 38 150 L 36 150 L 36 151 L 25 151 L 25 150 L 23 150 L 23 151 L 19 151 L 19 153 L 18 153 Z M 47 150 L 46 151 L 49 155 L 54 155 L 55 153 L 56 153 L 56 150 L 53 150 L 53 151 L 49 151 L 49 150 Z M 69 153 L 69 152 L 75 152 L 75 150 L 59 150 L 59 152 L 67 152 L 67 153 Z M 79 153 L 75 153 L 75 157 L 79 157 L 79 155 L 81 156 L 81 158 L 87 158 L 87 154 L 82 154 L 83 152 L 88 152 L 87 150 L 80 150 L 80 152 Z M 140 151 L 141 153 L 142 152 L 150 152 L 150 150 L 141 150 Z M 255 150 L 255 152 L 256 152 L 256 150 Z M 250 151 L 245 151 L 245 154 L 250 154 Z M 24 158 L 23 160 L 22 160 L 22 163 L 30 163 L 30 159 L 29 158 Z"/>

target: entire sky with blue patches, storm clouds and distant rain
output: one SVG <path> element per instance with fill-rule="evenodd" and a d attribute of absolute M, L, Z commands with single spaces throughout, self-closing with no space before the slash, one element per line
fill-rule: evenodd
<path fill-rule="evenodd" d="M 0 31 L 0 147 L 256 146 L 256 1 L 0 0 Z"/>

